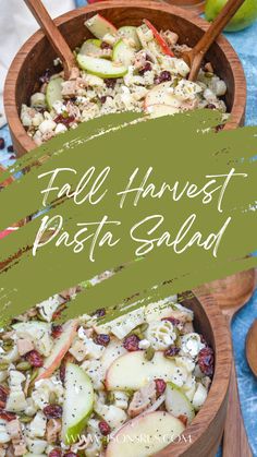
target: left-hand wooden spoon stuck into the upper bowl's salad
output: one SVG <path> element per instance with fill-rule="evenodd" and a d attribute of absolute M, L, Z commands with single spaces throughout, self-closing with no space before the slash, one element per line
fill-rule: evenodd
<path fill-rule="evenodd" d="M 75 57 L 70 49 L 69 45 L 66 44 L 65 39 L 63 38 L 61 32 L 48 14 L 46 8 L 41 3 L 40 0 L 24 0 L 26 5 L 32 11 L 35 20 L 44 29 L 45 34 L 47 35 L 49 41 L 51 43 L 53 49 L 56 50 L 57 55 L 62 60 L 63 69 L 64 69 L 64 77 L 69 80 L 72 73 L 72 69 L 76 68 L 76 60 Z"/>

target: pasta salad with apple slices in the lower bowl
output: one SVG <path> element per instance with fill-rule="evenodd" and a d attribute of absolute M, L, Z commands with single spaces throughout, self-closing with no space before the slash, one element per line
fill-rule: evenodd
<path fill-rule="evenodd" d="M 0 456 L 147 457 L 207 398 L 213 351 L 176 297 L 107 323 L 105 309 L 54 323 L 75 292 L 1 329 Z"/>

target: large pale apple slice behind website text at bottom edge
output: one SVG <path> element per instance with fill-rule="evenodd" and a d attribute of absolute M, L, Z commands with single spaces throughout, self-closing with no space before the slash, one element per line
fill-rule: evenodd
<path fill-rule="evenodd" d="M 166 411 L 149 412 L 126 422 L 109 442 L 106 457 L 148 457 L 172 443 L 185 430 Z M 160 440 L 163 436 L 163 440 Z"/>

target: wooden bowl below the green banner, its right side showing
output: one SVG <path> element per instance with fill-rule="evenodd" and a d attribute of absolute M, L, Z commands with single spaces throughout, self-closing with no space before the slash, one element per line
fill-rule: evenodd
<path fill-rule="evenodd" d="M 189 298 L 188 298 L 189 297 Z M 183 440 L 170 444 L 158 457 L 215 457 L 223 434 L 231 371 L 231 339 L 224 316 L 210 294 L 185 293 L 182 304 L 194 312 L 194 327 L 213 348 L 215 376 L 208 397 Z"/>

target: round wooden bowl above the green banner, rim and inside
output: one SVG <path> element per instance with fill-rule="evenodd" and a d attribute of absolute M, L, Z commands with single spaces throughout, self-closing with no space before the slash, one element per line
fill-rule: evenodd
<path fill-rule="evenodd" d="M 90 36 L 84 22 L 97 12 L 101 12 L 117 26 L 138 25 L 142 19 L 147 17 L 159 29 L 171 28 L 179 34 L 181 44 L 185 43 L 189 46 L 194 46 L 208 27 L 207 22 L 197 17 L 189 10 L 182 10 L 167 3 L 135 0 L 105 1 L 71 11 L 57 19 L 56 22 L 72 49 Z M 54 71 L 52 63 L 54 58 L 54 50 L 44 33 L 39 31 L 22 47 L 8 73 L 4 106 L 14 148 L 19 155 L 36 147 L 21 123 L 21 105 L 28 104 L 30 95 L 38 89 L 38 77 L 45 70 L 49 68 L 52 72 Z M 225 128 L 234 129 L 242 125 L 246 104 L 246 84 L 237 55 L 227 39 L 221 36 L 210 48 L 207 59 L 211 61 L 216 73 L 228 85 L 225 104 L 231 112 L 231 119 Z"/>

